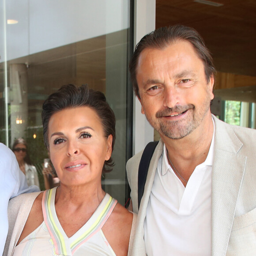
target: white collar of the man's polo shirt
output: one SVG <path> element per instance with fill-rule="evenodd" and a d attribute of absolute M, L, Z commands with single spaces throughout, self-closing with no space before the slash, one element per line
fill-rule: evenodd
<path fill-rule="evenodd" d="M 202 163 L 203 165 L 206 166 L 212 166 L 213 163 L 213 150 L 214 150 L 214 138 L 215 138 L 215 123 L 213 118 L 212 119 L 212 123 L 213 123 L 213 136 L 211 139 L 211 146 L 209 149 L 209 152 L 207 154 L 207 158 L 205 159 L 205 161 Z M 162 154 L 162 175 L 165 175 L 170 167 L 169 163 L 168 163 L 168 159 L 167 159 L 167 154 L 166 154 L 166 145 L 164 143 L 164 148 L 163 148 L 163 154 Z"/>

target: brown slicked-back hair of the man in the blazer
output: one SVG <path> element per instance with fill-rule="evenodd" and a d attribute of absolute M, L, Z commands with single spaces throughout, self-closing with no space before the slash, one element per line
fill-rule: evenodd
<path fill-rule="evenodd" d="M 136 96 L 139 97 L 139 87 L 136 79 L 136 69 L 140 53 L 147 48 L 164 49 L 168 45 L 180 40 L 188 41 L 192 44 L 197 55 L 203 61 L 207 83 L 210 82 L 211 76 L 215 75 L 216 71 L 211 57 L 211 53 L 205 46 L 203 38 L 200 36 L 200 34 L 195 29 L 183 25 L 161 27 L 145 35 L 139 41 L 132 55 L 132 59 L 130 60 L 129 70 L 131 74 L 133 90 Z"/>

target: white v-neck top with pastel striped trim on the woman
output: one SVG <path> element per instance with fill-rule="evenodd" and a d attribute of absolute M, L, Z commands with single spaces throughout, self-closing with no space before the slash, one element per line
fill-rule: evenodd
<path fill-rule="evenodd" d="M 102 232 L 102 226 L 117 200 L 106 193 L 90 219 L 72 237 L 67 237 L 56 215 L 55 195 L 56 188 L 44 192 L 44 221 L 15 247 L 13 256 L 116 255 Z"/>

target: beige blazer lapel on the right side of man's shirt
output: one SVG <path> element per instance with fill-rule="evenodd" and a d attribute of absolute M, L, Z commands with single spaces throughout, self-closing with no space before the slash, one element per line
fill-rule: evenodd
<path fill-rule="evenodd" d="M 224 256 L 236 211 L 246 156 L 237 154 L 241 141 L 230 126 L 215 119 L 212 167 L 212 256 Z"/>

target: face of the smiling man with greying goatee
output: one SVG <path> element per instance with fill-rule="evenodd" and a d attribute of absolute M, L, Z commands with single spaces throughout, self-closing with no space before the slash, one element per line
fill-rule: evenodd
<path fill-rule="evenodd" d="M 203 61 L 189 42 L 144 49 L 136 79 L 141 112 L 161 136 L 181 139 L 211 117 L 214 78 L 207 83 Z"/>

